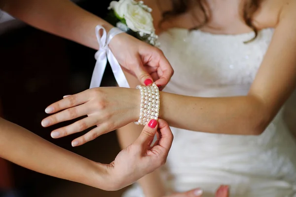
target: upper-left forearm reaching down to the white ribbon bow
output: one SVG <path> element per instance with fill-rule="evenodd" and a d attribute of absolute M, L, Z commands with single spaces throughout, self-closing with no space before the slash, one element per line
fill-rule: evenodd
<path fill-rule="evenodd" d="M 6 0 L 4 11 L 43 31 L 98 49 L 95 27 L 112 26 L 70 0 Z M 106 8 L 107 9 L 107 8 Z"/>

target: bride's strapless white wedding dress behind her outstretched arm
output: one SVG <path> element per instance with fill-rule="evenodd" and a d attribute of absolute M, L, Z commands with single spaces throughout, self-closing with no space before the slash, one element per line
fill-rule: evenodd
<path fill-rule="evenodd" d="M 198 97 L 246 95 L 272 35 L 273 29 L 264 29 L 244 44 L 254 33 L 214 35 L 185 29 L 163 33 L 160 48 L 175 70 L 164 91 Z M 296 197 L 296 142 L 282 111 L 259 136 L 172 127 L 174 142 L 162 170 L 167 190 L 199 187 L 203 197 L 214 197 L 223 184 L 230 186 L 230 197 Z M 135 184 L 123 197 L 144 195 Z"/>

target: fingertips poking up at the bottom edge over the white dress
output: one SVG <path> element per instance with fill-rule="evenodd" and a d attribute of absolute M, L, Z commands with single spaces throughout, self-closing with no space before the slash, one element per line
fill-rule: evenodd
<path fill-rule="evenodd" d="M 202 197 L 202 190 L 195 189 L 184 193 L 173 194 L 167 197 Z M 216 192 L 215 197 L 229 197 L 228 186 L 220 186 Z"/>

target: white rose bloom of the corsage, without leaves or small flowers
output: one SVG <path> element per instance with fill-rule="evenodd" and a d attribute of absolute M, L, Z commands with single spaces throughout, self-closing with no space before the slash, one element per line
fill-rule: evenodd
<path fill-rule="evenodd" d="M 134 32 L 151 34 L 155 31 L 151 14 L 134 0 L 111 1 L 110 7 L 118 17 L 124 18 L 126 25 Z"/>

